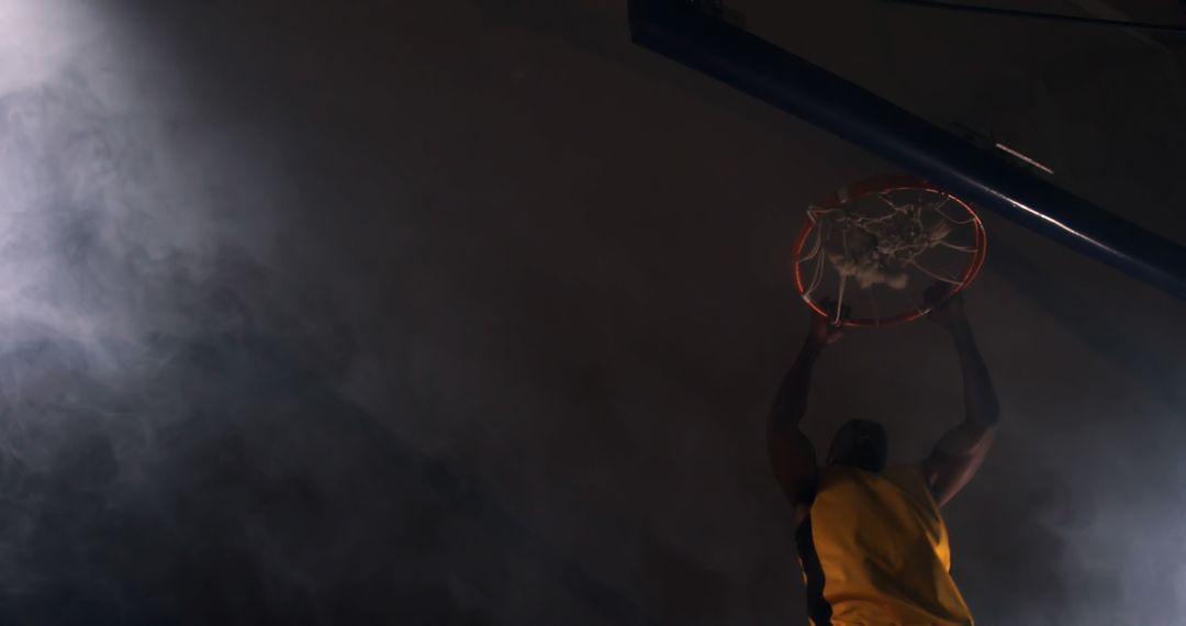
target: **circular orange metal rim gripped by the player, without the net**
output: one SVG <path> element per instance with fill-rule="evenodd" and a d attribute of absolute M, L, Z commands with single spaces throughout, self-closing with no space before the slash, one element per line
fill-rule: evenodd
<path fill-rule="evenodd" d="M 862 180 L 860 183 L 849 185 L 848 187 L 844 187 L 833 193 L 831 196 L 825 198 L 824 202 L 817 204 L 817 206 L 824 210 L 839 209 L 840 206 L 849 202 L 853 202 L 857 198 L 863 198 L 866 196 L 871 196 L 874 193 L 884 193 L 890 191 L 903 191 L 903 190 L 925 191 L 930 193 L 939 193 L 946 196 L 949 199 L 951 199 L 951 202 L 955 202 L 961 207 L 963 207 L 964 211 L 968 212 L 968 216 L 971 218 L 971 228 L 974 232 L 974 244 L 976 251 L 968 261 L 968 266 L 961 274 L 959 282 L 954 286 L 951 293 L 948 294 L 948 298 L 951 298 L 952 295 L 967 289 L 968 286 L 971 285 L 971 281 L 976 279 L 976 275 L 980 274 L 980 268 L 984 266 L 984 258 L 988 255 L 988 234 L 984 232 L 984 224 L 980 221 L 980 216 L 976 215 L 976 211 L 973 210 L 971 205 L 957 198 L 956 196 L 952 196 L 946 191 L 943 191 L 939 187 L 932 185 L 930 181 L 912 174 L 886 174 L 886 175 L 869 178 L 867 180 Z M 792 251 L 792 254 L 795 255 L 795 287 L 796 289 L 798 289 L 799 295 L 803 298 L 803 301 L 806 302 L 812 311 L 815 311 L 820 315 L 829 317 L 833 313 L 829 313 L 822 306 L 820 306 L 820 304 L 816 302 L 815 299 L 806 293 L 806 288 L 803 285 L 803 272 L 801 269 L 803 247 L 806 244 L 806 241 L 811 236 L 811 232 L 815 230 L 815 226 L 816 226 L 816 219 L 809 212 L 806 219 L 804 219 L 803 222 L 803 228 L 799 229 L 799 234 L 795 238 L 795 249 Z M 893 326 L 917 320 L 919 318 L 925 317 L 930 312 L 931 307 L 924 307 L 924 308 L 918 308 L 916 311 L 907 311 L 905 313 L 892 315 L 885 319 L 874 319 L 874 318 L 847 319 L 843 322 L 841 322 L 841 325 L 855 326 L 855 327 Z"/>

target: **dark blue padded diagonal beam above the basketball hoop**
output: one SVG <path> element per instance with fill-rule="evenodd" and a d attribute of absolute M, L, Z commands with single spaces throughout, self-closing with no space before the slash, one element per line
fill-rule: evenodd
<path fill-rule="evenodd" d="M 719 6 L 719 5 L 718 5 Z M 1186 299 L 1186 248 L 973 146 L 688 0 L 630 0 L 633 41 L 964 200 Z"/>

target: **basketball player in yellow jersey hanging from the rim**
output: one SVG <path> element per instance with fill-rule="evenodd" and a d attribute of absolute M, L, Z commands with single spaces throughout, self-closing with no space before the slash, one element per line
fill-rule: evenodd
<path fill-rule="evenodd" d="M 939 302 L 944 292 L 927 298 Z M 973 624 L 951 580 L 951 554 L 939 507 L 976 473 L 993 445 L 996 394 L 959 294 L 930 319 L 951 337 L 963 373 L 964 419 L 922 462 L 886 467 L 885 428 L 844 423 L 821 467 L 799 430 L 811 368 L 841 337 L 812 314 L 811 330 L 783 382 L 769 424 L 774 474 L 795 507 L 796 543 L 815 626 Z"/>

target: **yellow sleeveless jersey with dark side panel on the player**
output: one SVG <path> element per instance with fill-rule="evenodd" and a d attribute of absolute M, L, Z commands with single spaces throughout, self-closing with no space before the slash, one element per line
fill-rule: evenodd
<path fill-rule="evenodd" d="M 815 626 L 969 626 L 948 529 L 917 466 L 829 466 L 796 531 Z"/>

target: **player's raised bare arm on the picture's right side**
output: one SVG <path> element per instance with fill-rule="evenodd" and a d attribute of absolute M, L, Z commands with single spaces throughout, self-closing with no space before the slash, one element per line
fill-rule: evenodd
<path fill-rule="evenodd" d="M 937 287 L 929 292 L 929 299 L 939 300 L 943 294 L 940 289 L 943 288 Z M 930 318 L 951 336 L 959 356 L 964 391 L 963 422 L 948 430 L 931 455 L 923 461 L 923 473 L 935 502 L 943 506 L 971 480 L 984 462 L 996 434 L 1000 407 L 993 379 L 964 315 L 963 298 L 956 294 L 939 304 Z"/>

